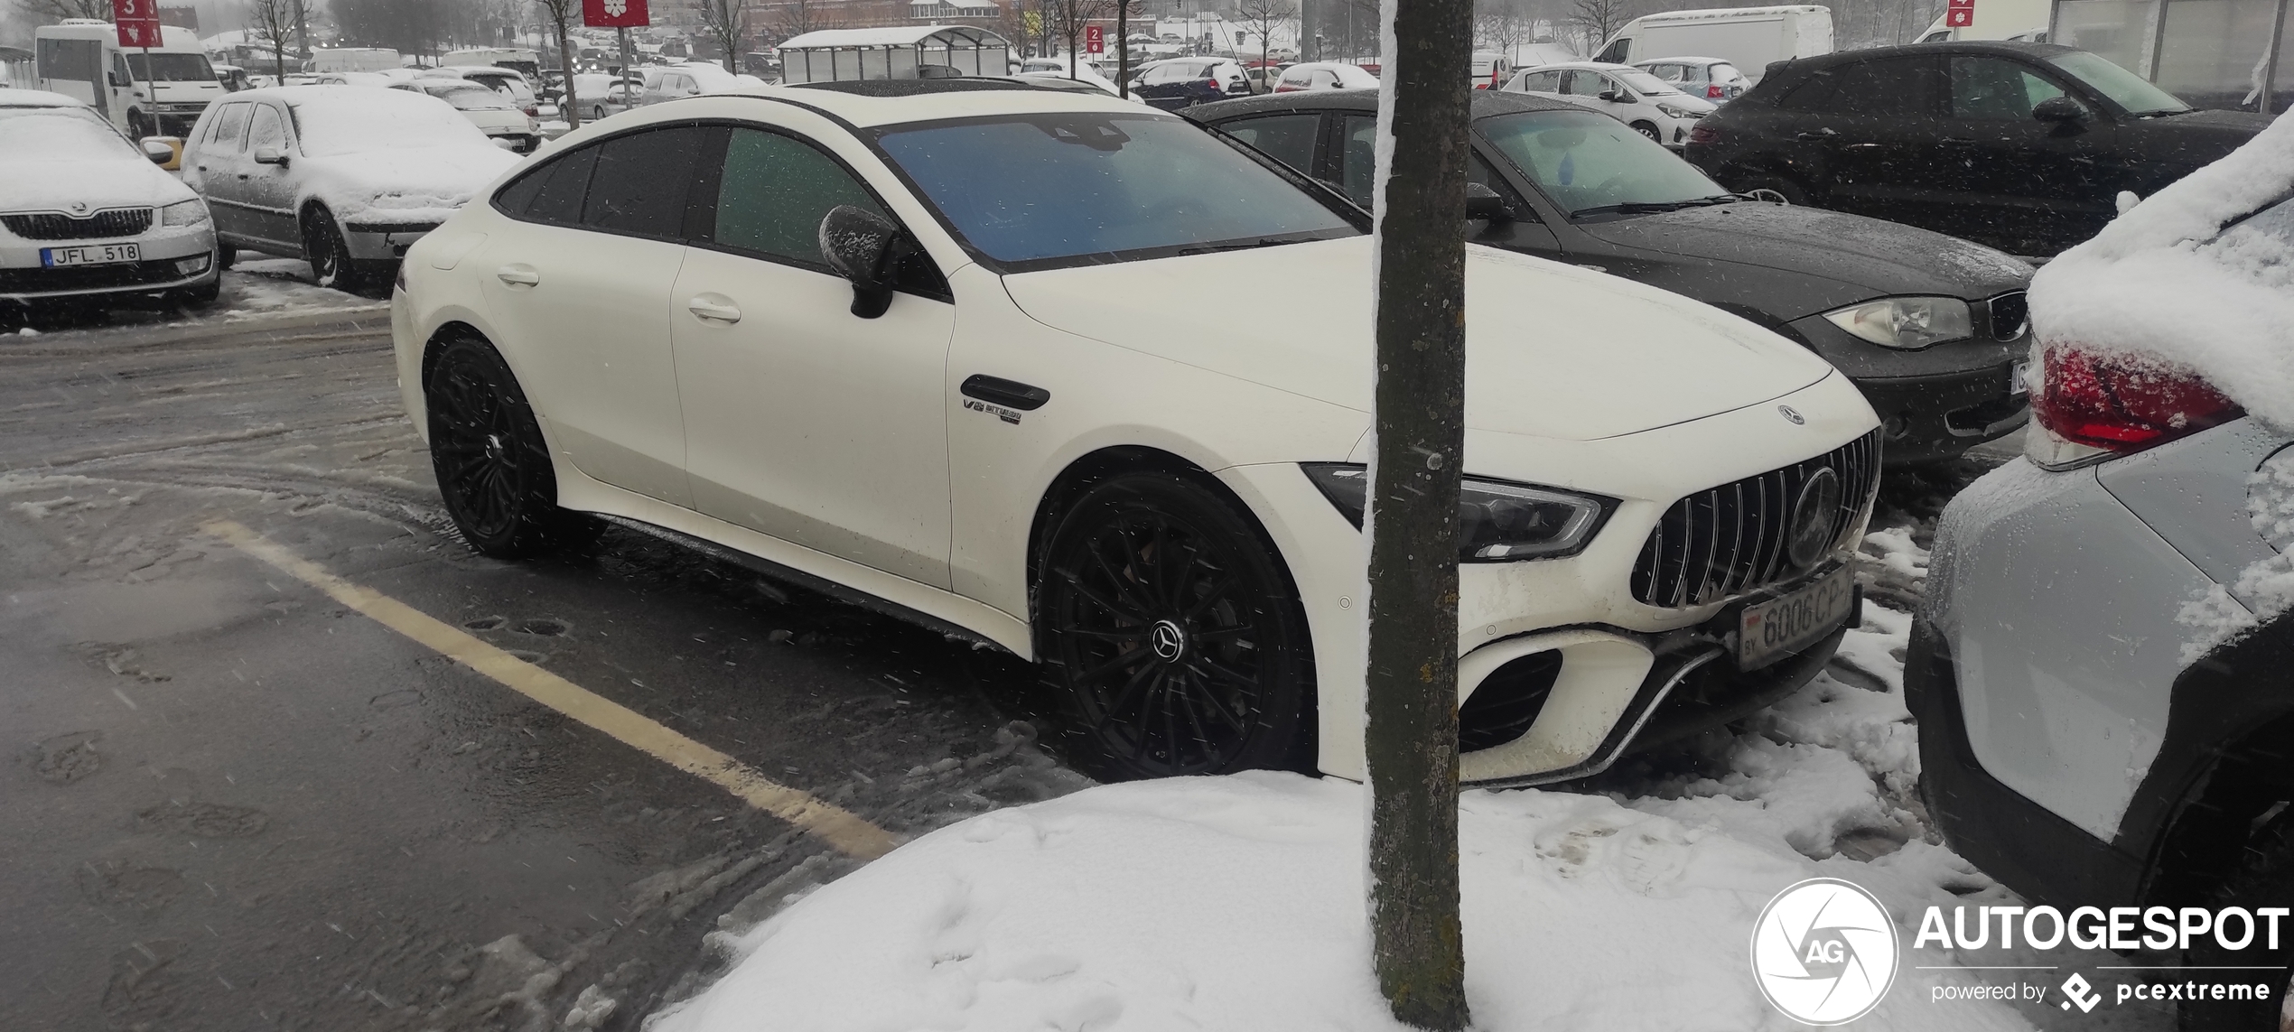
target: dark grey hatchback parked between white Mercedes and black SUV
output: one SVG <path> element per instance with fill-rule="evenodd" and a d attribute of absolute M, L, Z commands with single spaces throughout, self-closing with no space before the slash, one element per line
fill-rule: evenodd
<path fill-rule="evenodd" d="M 1225 101 L 1186 115 L 1370 206 L 1376 89 Z M 1601 268 L 1762 323 L 1844 372 L 1890 463 L 1957 456 L 2030 415 L 2030 266 L 1950 236 L 1723 190 L 1624 122 L 1477 89 L 1473 243 Z"/>

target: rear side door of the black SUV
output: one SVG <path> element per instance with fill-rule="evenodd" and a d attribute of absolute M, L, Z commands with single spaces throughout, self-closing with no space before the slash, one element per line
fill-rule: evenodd
<path fill-rule="evenodd" d="M 1817 76 L 1787 101 L 1810 108 L 1794 131 L 1794 165 L 1812 170 L 1824 204 L 1964 236 L 1966 197 L 1943 188 L 1936 170 L 1941 57 L 1881 57 Z"/>

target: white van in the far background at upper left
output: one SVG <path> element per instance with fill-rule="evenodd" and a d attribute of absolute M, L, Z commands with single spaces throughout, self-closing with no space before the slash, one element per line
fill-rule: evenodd
<path fill-rule="evenodd" d="M 206 64 L 200 37 L 161 25 L 161 46 L 122 50 L 108 21 L 67 18 L 32 30 L 37 89 L 57 92 L 99 110 L 122 133 L 184 135 L 209 101 L 225 94 Z"/>

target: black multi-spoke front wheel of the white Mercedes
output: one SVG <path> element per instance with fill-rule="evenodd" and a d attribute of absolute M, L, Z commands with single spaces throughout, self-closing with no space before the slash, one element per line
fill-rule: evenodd
<path fill-rule="evenodd" d="M 1202 482 L 1085 493 L 1039 564 L 1046 679 L 1103 780 L 1310 768 L 1305 610 L 1253 523 Z"/>

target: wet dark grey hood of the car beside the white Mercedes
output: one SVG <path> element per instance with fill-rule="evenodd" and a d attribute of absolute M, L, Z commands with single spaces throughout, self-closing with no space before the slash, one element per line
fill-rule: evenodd
<path fill-rule="evenodd" d="M 2030 284 L 2032 268 L 2000 250 L 1879 218 L 1787 204 L 1714 204 L 1604 222 L 1581 232 L 1670 259 L 1792 273 L 1741 277 L 1707 268 L 1698 284 L 1663 284 L 1709 303 L 1737 303 L 1782 321 L 1888 294 L 1991 298 Z M 1755 287 L 1759 284 L 1759 287 Z M 1789 284 L 1776 289 L 1776 284 Z"/>

